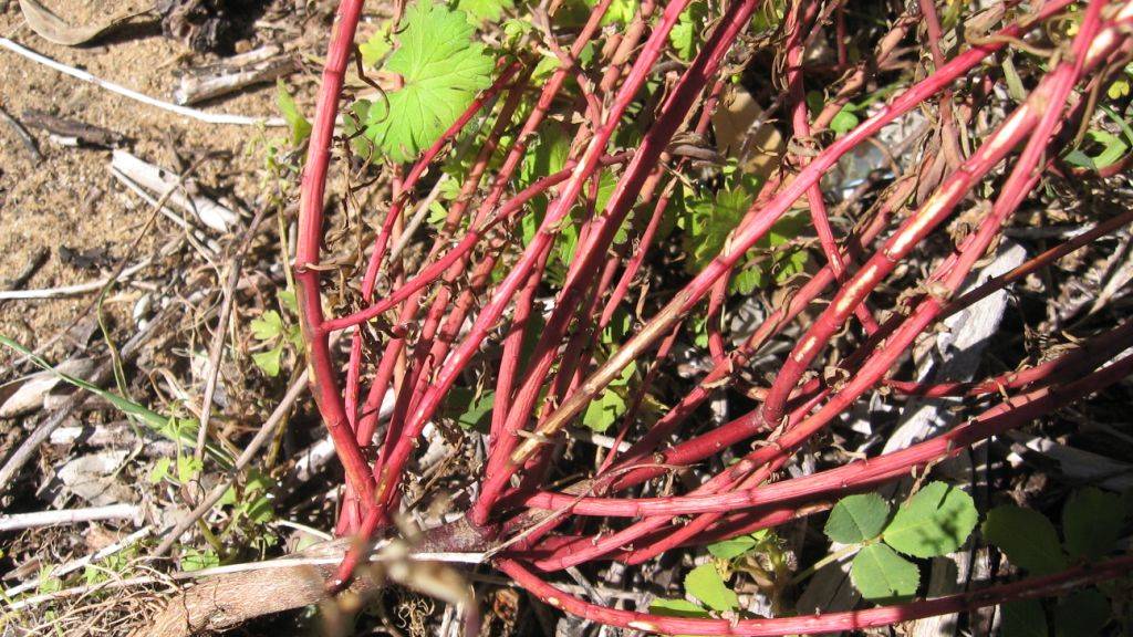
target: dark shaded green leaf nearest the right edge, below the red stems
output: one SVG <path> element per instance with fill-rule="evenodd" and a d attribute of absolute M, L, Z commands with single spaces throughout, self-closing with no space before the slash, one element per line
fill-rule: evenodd
<path fill-rule="evenodd" d="M 1121 495 L 1094 486 L 1076 491 L 1063 508 L 1063 535 L 1072 558 L 1098 559 L 1114 550 L 1125 521 Z"/>

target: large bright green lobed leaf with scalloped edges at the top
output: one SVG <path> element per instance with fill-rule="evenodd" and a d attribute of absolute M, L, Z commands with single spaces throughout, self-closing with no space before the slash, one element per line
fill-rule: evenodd
<path fill-rule="evenodd" d="M 419 0 L 406 11 L 401 45 L 385 70 L 404 85 L 369 105 L 366 135 L 398 163 L 412 161 L 492 84 L 493 60 L 463 11 Z"/>

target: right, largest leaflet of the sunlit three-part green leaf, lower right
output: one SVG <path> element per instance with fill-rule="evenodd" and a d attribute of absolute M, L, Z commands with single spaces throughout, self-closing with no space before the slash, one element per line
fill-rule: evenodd
<path fill-rule="evenodd" d="M 906 555 L 932 558 L 959 549 L 978 520 L 971 495 L 932 482 L 897 510 L 883 537 Z"/>

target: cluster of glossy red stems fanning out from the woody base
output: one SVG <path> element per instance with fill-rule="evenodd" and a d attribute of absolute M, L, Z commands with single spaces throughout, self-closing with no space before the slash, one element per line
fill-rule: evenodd
<path fill-rule="evenodd" d="M 462 372 L 486 356 L 486 341 L 503 334 L 502 354 L 492 362 L 496 372 L 494 410 L 487 461 L 478 476 L 477 495 L 461 523 L 451 525 L 448 530 L 446 527 L 435 529 L 432 537 L 434 544 L 448 543 L 451 550 L 469 545 L 503 546 L 493 554 L 494 566 L 543 602 L 566 612 L 606 625 L 664 634 L 826 632 L 889 625 L 1006 600 L 1053 595 L 1068 586 L 1128 570 L 1133 560 L 1119 558 L 1089 569 L 1076 567 L 1048 577 L 901 605 L 742 620 L 672 618 L 605 608 L 546 580 L 547 574 L 569 567 L 602 560 L 637 564 L 671 549 L 704 545 L 825 510 L 847 493 L 908 476 L 989 436 L 1097 392 L 1133 372 L 1133 357 L 1110 362 L 1115 351 L 1133 346 L 1133 322 L 1130 322 L 1058 358 L 982 382 L 919 384 L 889 377 L 914 340 L 942 318 L 1133 221 L 1133 213 L 1126 212 L 1099 222 L 1089 232 L 1050 248 L 1004 275 L 964 294 L 957 292 L 973 266 L 996 245 L 1004 224 L 1039 180 L 1059 170 L 1054 158 L 1065 144 L 1067 134 L 1074 133 L 1076 122 L 1089 117 L 1085 96 L 1097 91 L 1110 71 L 1121 68 L 1133 53 L 1133 39 L 1128 36 L 1133 28 L 1133 2 L 1105 0 L 1089 0 L 1077 7 L 1076 33 L 1058 48 L 1049 69 L 1028 99 L 1007 113 L 969 156 L 952 153 L 946 162 L 947 170 L 938 177 L 935 189 L 922 198 L 922 203 L 908 204 L 919 180 L 927 179 L 921 172 L 927 172 L 926 167 L 935 156 L 927 156 L 922 165 L 897 176 L 871 206 L 867 219 L 852 232 L 837 237 L 819 190 L 823 175 L 855 146 L 869 142 L 881 127 L 922 108 L 930 100 L 938 100 L 945 146 L 952 145 L 949 138 L 954 139 L 956 126 L 961 125 L 957 118 L 972 112 L 971 108 L 962 108 L 965 104 L 953 95 L 954 83 L 969 74 L 978 74 L 989 57 L 1020 42 L 1032 29 L 1064 18 L 1073 1 L 1040 2 L 1021 19 L 979 42 L 969 43 L 968 49 L 947 60 L 940 53 L 943 35 L 932 0 L 914 3 L 880 39 L 878 54 L 872 61 L 892 54 L 910 29 L 923 25 L 932 53 L 931 73 L 893 95 L 871 117 L 825 148 L 792 158 L 792 168 L 796 170 L 791 175 L 782 171 L 766 182 L 715 260 L 651 318 L 642 317 L 633 336 L 608 359 L 600 364 L 595 362 L 596 336 L 625 300 L 647 252 L 656 248 L 654 243 L 661 219 L 673 195 L 672 175 L 684 167 L 684 160 L 668 153 L 671 143 L 678 134 L 705 135 L 708 131 L 710 116 L 729 82 L 721 73 L 722 62 L 740 41 L 759 3 L 760 0 L 729 0 L 696 58 L 679 77 L 672 76 L 675 79 L 670 82 L 664 100 L 655 112 L 648 113 L 653 119 L 640 145 L 616 154 L 608 152 L 612 135 L 624 122 L 627 109 L 654 73 L 667 45 L 670 31 L 689 0 L 670 0 L 665 6 L 644 0 L 624 29 L 604 35 L 600 56 L 605 70 L 600 80 L 590 80 L 578 75 L 574 60 L 602 28 L 611 31 L 602 27 L 611 0 L 599 1 L 585 26 L 573 35 L 569 50 L 557 51 L 566 63 L 562 63 L 538 90 L 538 101 L 521 125 L 512 118 L 520 100 L 531 99 L 530 63 L 502 60 L 494 85 L 477 97 L 408 172 L 398 172 L 393 198 L 370 248 L 361 281 L 365 307 L 348 316 L 326 318 L 322 299 L 325 281 L 321 274 L 326 269 L 320 266 L 326 172 L 343 75 L 353 56 L 353 37 L 363 6 L 363 0 L 342 0 L 326 57 L 303 178 L 295 264 L 312 387 L 346 469 L 339 533 L 370 538 L 391 524 L 400 504 L 399 484 L 423 428 L 437 415 Z M 821 112 L 813 116 L 808 112 L 802 63 L 808 37 L 819 33 L 821 29 L 816 25 L 827 20 L 844 24 L 845 5 L 844 1 L 823 3 L 817 0 L 789 3 L 780 33 L 781 66 L 789 121 L 799 143 L 810 143 L 817 133 L 826 129 L 876 68 L 864 61 L 847 62 L 840 48 L 838 63 L 844 70 L 841 88 Z M 570 77 L 579 78 L 583 97 L 578 101 L 580 117 L 574 121 L 580 124 L 571 146 L 572 156 L 561 172 L 542 178 L 519 193 L 510 192 L 509 185 L 516 178 L 529 142 Z M 982 91 L 985 96 L 990 93 L 991 84 L 987 77 L 974 82 L 977 92 Z M 502 105 L 499 109 L 491 107 L 497 104 L 497 100 Z M 421 177 L 469 122 L 483 117 L 482 111 L 495 113 L 491 133 L 483 138 L 472 168 L 461 185 L 460 197 L 448 210 L 444 230 L 437 233 L 420 271 L 409 275 L 395 258 L 397 249 L 391 258 L 390 244 L 398 240 L 404 211 L 415 205 L 414 195 Z M 504 136 L 505 131 L 514 134 Z M 510 139 L 510 147 L 499 148 L 501 139 Z M 493 176 L 488 160 L 497 150 L 503 152 L 504 160 Z M 990 175 L 1000 164 L 1005 164 L 1002 177 Z M 525 332 L 533 324 L 533 312 L 540 309 L 536 295 L 556 231 L 564 220 L 570 221 L 577 205 L 590 202 L 593 210 L 596 177 L 615 165 L 620 167 L 616 189 L 604 210 L 594 211 L 581 226 L 565 281 L 557 291 L 545 326 L 540 323 L 539 333 L 534 334 L 537 337 L 534 354 L 521 368 L 520 348 Z M 965 204 L 974 187 L 993 177 L 998 180 L 998 194 L 993 205 L 979 210 L 980 219 L 974 230 L 955 241 L 951 254 L 938 260 L 920 291 L 914 290 L 905 300 L 905 309 L 892 312 L 883 320 L 875 318 L 867 305 L 871 291 L 927 237 L 940 231 L 942 224 Z M 506 277 L 493 281 L 492 272 L 503 250 L 513 247 L 517 240 L 508 230 L 529 212 L 530 206 L 526 204 L 543 193 L 551 195 L 552 203 L 538 232 L 510 263 Z M 617 430 L 619 444 L 605 456 L 600 469 L 590 479 L 562 492 L 547 490 L 544 481 L 556 461 L 553 444 L 556 435 L 617 379 L 627 365 L 653 357 L 642 387 L 636 390 L 639 404 L 646 388 L 665 367 L 682 322 L 706 300 L 709 316 L 721 312 L 730 273 L 744 253 L 802 197 L 806 197 L 813 233 L 824 255 L 821 269 L 783 300 L 782 306 L 738 347 L 726 345 L 718 329 L 712 326 L 717 322 L 708 321 L 712 368 L 691 391 L 649 425 L 644 435 L 631 441 L 628 449 L 622 447 L 624 450 L 619 452 L 620 443 L 632 430 L 630 425 L 637 408 L 633 405 Z M 638 230 L 627 223 L 633 209 L 648 215 L 648 223 Z M 615 244 L 615 235 L 623 228 L 634 232 L 632 240 Z M 378 297 L 375 289 L 382 272 L 387 273 L 390 291 Z M 819 301 L 825 304 L 818 305 Z M 732 382 L 760 347 L 807 307 L 820 307 L 820 312 L 801 331 L 774 382 L 760 391 L 759 406 L 722 426 L 682 435 L 682 427 L 689 424 L 697 408 L 715 390 Z M 378 318 L 386 325 L 384 349 L 367 353 L 359 326 Z M 820 358 L 824 350 L 851 321 L 862 337 L 838 363 L 844 374 L 836 375 L 835 380 L 828 374 L 809 372 L 816 364 L 824 363 Z M 343 379 L 340 376 L 341 362 L 335 362 L 329 337 L 348 329 L 352 329 L 352 340 Z M 366 359 L 376 360 L 376 368 L 366 374 L 368 377 L 363 377 Z M 836 422 L 862 394 L 880 387 L 906 396 L 983 397 L 985 406 L 991 406 L 943 435 L 904 450 L 806 477 L 773 482 L 776 472 L 800 445 Z M 375 442 L 378 407 L 387 391 L 395 397 L 393 414 L 384 438 Z M 545 398 L 540 400 L 543 391 Z M 761 439 L 757 441 L 757 436 Z M 653 478 L 702 462 L 741 442 L 748 442 L 751 451 L 691 492 L 665 498 L 632 494 L 634 487 Z M 375 445 L 376 460 L 370 461 L 364 449 Z M 615 524 L 616 532 L 572 535 L 570 529 L 587 528 L 578 524 L 582 516 L 613 523 L 616 521 L 613 518 L 625 518 L 629 524 Z M 564 528 L 569 520 L 573 523 Z M 340 574 L 342 579 L 349 577 L 358 559 L 358 554 L 348 557 Z"/>

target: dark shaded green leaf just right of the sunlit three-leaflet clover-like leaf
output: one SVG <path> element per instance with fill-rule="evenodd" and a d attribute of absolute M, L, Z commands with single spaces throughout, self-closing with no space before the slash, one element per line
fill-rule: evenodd
<path fill-rule="evenodd" d="M 1066 568 L 1055 525 L 1033 509 L 1014 504 L 996 507 L 988 511 L 982 529 L 983 540 L 1031 575 L 1049 575 Z"/>

